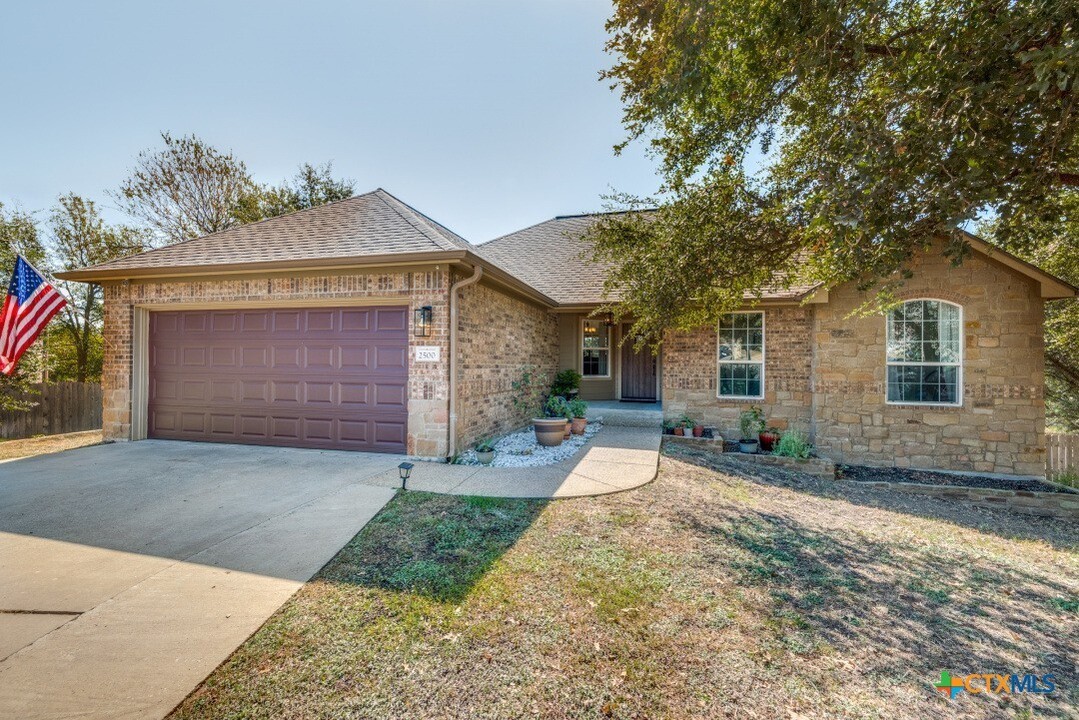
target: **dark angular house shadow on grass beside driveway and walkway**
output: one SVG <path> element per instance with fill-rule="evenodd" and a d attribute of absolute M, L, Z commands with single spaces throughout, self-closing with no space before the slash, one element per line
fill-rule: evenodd
<path fill-rule="evenodd" d="M 457 603 L 548 502 L 398 492 L 318 578 Z"/>

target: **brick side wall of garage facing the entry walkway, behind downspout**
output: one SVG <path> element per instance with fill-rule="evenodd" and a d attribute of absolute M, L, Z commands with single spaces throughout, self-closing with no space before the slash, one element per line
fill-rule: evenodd
<path fill-rule="evenodd" d="M 513 382 L 525 365 L 554 379 L 558 318 L 484 283 L 460 290 L 457 311 L 457 449 L 528 423 L 514 406 Z"/>

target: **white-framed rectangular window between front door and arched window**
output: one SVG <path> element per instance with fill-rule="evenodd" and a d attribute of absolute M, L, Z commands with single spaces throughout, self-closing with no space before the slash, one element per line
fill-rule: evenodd
<path fill-rule="evenodd" d="M 720 317 L 716 347 L 716 396 L 764 397 L 764 313 L 736 312 Z"/>

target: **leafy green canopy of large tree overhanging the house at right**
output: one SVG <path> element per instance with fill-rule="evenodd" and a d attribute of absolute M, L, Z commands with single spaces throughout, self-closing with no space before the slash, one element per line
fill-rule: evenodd
<path fill-rule="evenodd" d="M 592 231 L 633 331 L 654 344 L 769 282 L 887 301 L 915 253 L 960 261 L 957 226 L 986 213 L 1048 240 L 1033 220 L 1079 185 L 1076 28 L 1058 0 L 616 0 L 605 77 L 664 177 L 658 201 L 614 199 L 656 212 Z"/>

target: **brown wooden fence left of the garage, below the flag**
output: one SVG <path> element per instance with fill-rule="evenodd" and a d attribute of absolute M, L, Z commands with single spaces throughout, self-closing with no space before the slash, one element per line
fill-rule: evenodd
<path fill-rule="evenodd" d="M 40 394 L 21 395 L 37 405 L 29 410 L 0 410 L 0 438 L 56 435 L 101 426 L 101 385 L 90 382 L 38 383 Z"/>

